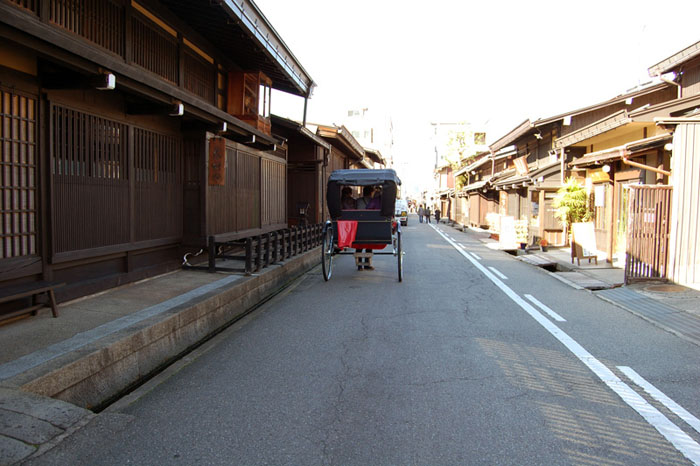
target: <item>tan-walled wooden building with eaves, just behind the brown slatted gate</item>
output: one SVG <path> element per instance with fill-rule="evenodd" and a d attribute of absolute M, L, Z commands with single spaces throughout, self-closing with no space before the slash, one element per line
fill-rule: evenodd
<path fill-rule="evenodd" d="M 671 154 L 665 146 L 671 136 L 654 118 L 678 104 L 676 89 L 661 83 L 646 90 L 633 96 L 634 107 L 612 111 L 555 143 L 557 150 L 574 153 L 568 165 L 590 192 L 596 249 L 620 264 L 627 249 L 629 187 L 669 181 Z"/>

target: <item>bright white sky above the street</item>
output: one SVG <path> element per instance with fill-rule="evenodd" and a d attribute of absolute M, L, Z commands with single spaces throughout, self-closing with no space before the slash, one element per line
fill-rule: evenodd
<path fill-rule="evenodd" d="M 317 84 L 307 121 L 388 112 L 397 158 L 430 171 L 430 122 L 484 127 L 593 105 L 700 41 L 698 0 L 255 0 Z M 301 120 L 303 100 L 273 96 Z M 350 128 L 352 129 L 352 128 Z M 415 174 L 414 174 L 415 175 Z"/>

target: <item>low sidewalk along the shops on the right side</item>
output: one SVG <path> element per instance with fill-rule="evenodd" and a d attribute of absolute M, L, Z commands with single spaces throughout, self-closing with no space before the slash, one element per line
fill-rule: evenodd
<path fill-rule="evenodd" d="M 500 249 L 498 241 L 485 230 L 468 228 L 469 234 L 491 249 Z M 637 282 L 625 286 L 625 271 L 600 258 L 572 263 L 569 248 L 550 247 L 516 251 L 513 259 L 548 270 L 552 277 L 567 285 L 589 290 L 596 297 L 621 307 L 680 338 L 700 346 L 700 291 L 661 281 Z M 505 253 L 505 252 L 504 252 Z"/>

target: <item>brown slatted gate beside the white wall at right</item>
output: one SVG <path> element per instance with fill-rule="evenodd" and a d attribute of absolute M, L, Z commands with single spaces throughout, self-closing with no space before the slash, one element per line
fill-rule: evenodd
<path fill-rule="evenodd" d="M 629 186 L 625 284 L 668 277 L 671 186 Z"/>

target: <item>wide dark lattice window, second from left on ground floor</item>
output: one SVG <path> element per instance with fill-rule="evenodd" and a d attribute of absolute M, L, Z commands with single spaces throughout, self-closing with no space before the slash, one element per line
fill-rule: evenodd
<path fill-rule="evenodd" d="M 51 108 L 53 251 L 129 241 L 127 126 Z"/>

